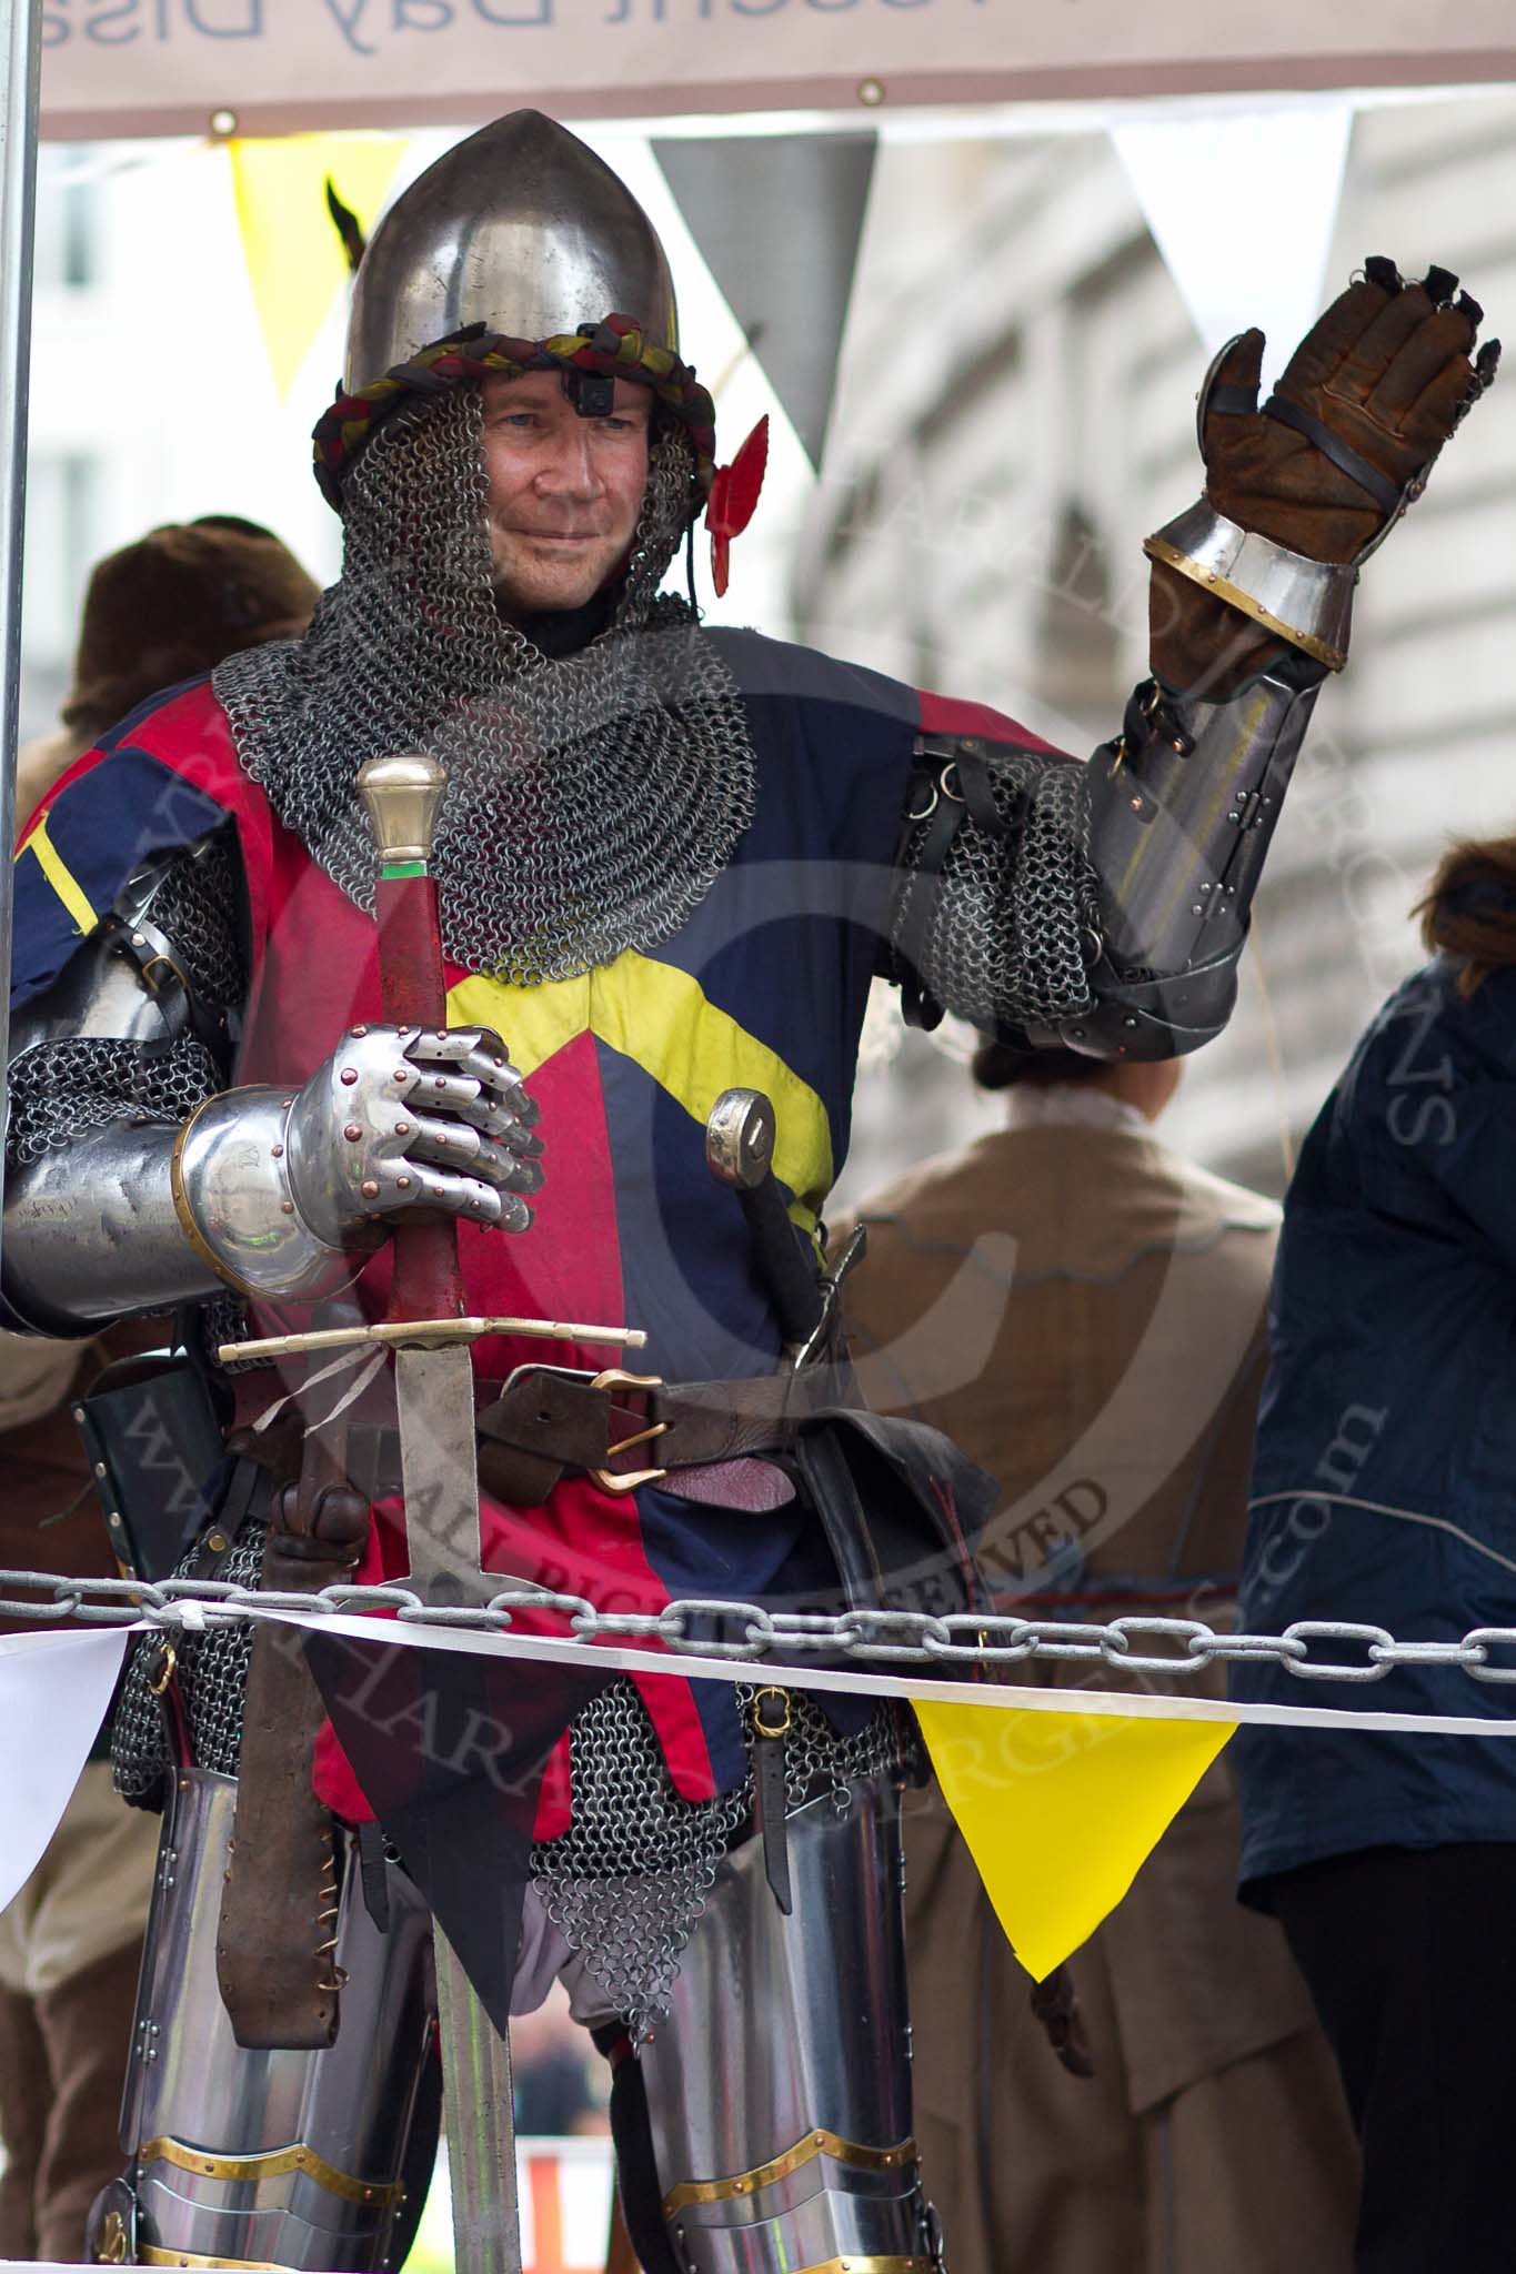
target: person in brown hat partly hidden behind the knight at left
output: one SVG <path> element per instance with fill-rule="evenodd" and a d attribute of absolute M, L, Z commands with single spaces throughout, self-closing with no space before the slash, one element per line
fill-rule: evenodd
<path fill-rule="evenodd" d="M 16 821 L 148 696 L 293 637 L 316 598 L 293 553 L 252 521 L 207 516 L 111 553 L 89 580 L 59 725 L 18 755 Z M 0 1569 L 116 1574 L 70 1401 L 109 1358 L 164 1333 L 141 1319 L 89 1344 L 0 1333 Z M 159 1826 L 116 1799 L 95 1751 L 48 1853 L 0 1910 L 0 2258 L 80 2258 L 89 2206 L 120 2172 Z"/>

